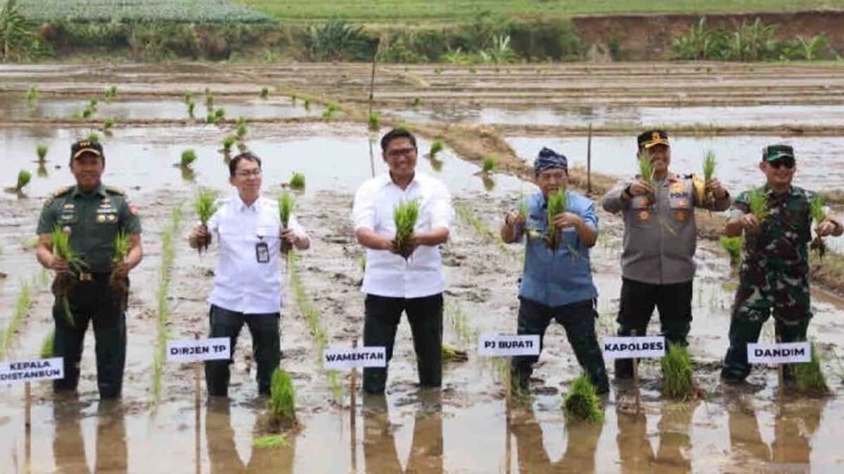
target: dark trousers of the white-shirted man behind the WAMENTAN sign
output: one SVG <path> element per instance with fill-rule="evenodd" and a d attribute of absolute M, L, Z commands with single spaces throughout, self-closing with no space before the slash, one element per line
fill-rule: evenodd
<path fill-rule="evenodd" d="M 423 298 L 388 298 L 367 294 L 365 299 L 364 346 L 386 347 L 387 364 L 392 358 L 396 329 L 402 312 L 407 313 L 414 337 L 419 385 L 442 385 L 442 294 Z M 383 393 L 387 368 L 364 369 L 364 390 Z"/>

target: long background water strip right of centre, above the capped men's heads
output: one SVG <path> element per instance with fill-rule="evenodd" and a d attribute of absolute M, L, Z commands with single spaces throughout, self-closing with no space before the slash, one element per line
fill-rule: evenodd
<path fill-rule="evenodd" d="M 641 127 L 720 126 L 802 126 L 844 124 L 844 105 L 753 105 L 720 107 L 612 107 L 579 106 L 523 109 L 451 107 L 383 110 L 404 121 L 441 121 L 451 123 L 506 125 L 638 125 Z"/>

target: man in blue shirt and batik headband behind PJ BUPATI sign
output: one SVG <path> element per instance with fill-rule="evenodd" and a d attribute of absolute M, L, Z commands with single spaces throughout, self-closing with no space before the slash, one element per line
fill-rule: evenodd
<path fill-rule="evenodd" d="M 501 226 L 501 238 L 507 243 L 527 235 L 518 333 L 538 334 L 541 347 L 545 329 L 556 320 L 565 327 L 577 362 L 598 393 L 606 393 L 607 370 L 595 335 L 598 290 L 589 267 L 589 249 L 598 240 L 595 204 L 566 189 L 569 175 L 564 155 L 543 148 L 533 170 L 539 192 L 527 199 L 527 215 L 511 211 Z M 565 209 L 549 216 L 549 199 L 560 197 L 565 197 Z M 537 360 L 537 356 L 513 358 L 512 381 L 517 389 L 527 390 Z"/>

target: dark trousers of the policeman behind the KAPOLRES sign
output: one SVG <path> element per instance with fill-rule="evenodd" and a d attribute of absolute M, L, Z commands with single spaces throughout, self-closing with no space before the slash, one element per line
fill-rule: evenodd
<path fill-rule="evenodd" d="M 691 327 L 691 297 L 691 282 L 655 285 L 622 278 L 618 335 L 630 336 L 630 331 L 636 331 L 637 336 L 645 336 L 647 323 L 651 321 L 656 307 L 662 326 L 660 335 L 669 344 L 685 346 Z M 615 359 L 615 377 L 625 379 L 632 376 L 633 360 Z"/>

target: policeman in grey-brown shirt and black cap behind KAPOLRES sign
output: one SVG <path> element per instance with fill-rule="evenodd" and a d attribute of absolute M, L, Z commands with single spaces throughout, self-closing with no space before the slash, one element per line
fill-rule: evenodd
<path fill-rule="evenodd" d="M 695 278 L 695 207 L 726 211 L 730 197 L 716 178 L 703 182 L 695 175 L 668 171 L 671 148 L 666 132 L 641 133 L 637 143 L 636 156 L 647 160 L 652 176 L 622 180 L 603 197 L 604 210 L 622 213 L 625 221 L 618 335 L 636 331 L 644 336 L 656 306 L 668 343 L 685 346 Z M 616 378 L 632 374 L 632 359 L 615 360 Z"/>

